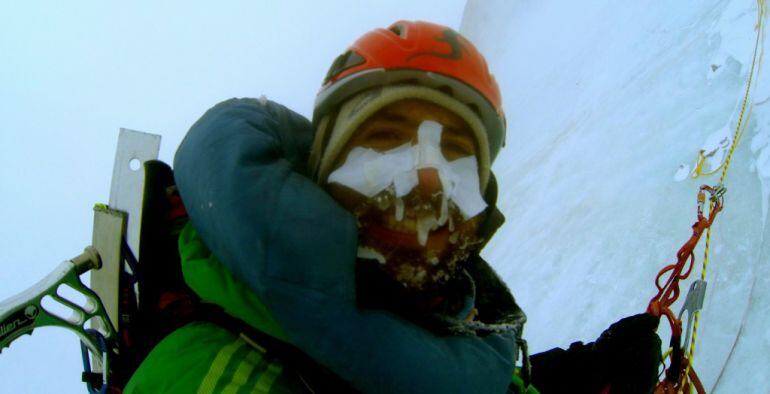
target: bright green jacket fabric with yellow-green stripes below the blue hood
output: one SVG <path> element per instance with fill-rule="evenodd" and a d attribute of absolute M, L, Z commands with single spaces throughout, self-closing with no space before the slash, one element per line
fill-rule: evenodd
<path fill-rule="evenodd" d="M 185 282 L 203 301 L 272 337 L 286 336 L 264 304 L 224 269 L 188 223 L 179 237 Z M 518 376 L 512 393 L 535 394 Z M 248 338 L 207 322 L 188 324 L 167 336 L 147 356 L 126 386 L 126 394 L 143 393 L 306 393 L 296 371 L 266 354 Z"/>

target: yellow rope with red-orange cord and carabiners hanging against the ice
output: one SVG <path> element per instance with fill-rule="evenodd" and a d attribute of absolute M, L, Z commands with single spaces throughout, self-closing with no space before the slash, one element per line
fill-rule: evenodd
<path fill-rule="evenodd" d="M 763 37 L 765 12 L 765 0 L 757 0 L 757 24 L 755 27 L 757 37 L 754 46 L 754 54 L 748 80 L 746 82 L 746 90 L 741 103 L 740 115 L 738 116 L 738 122 L 735 127 L 735 132 L 733 133 L 732 141 L 730 142 L 729 152 L 727 153 L 725 160 L 720 163 L 719 166 L 711 169 L 709 172 L 704 172 L 704 162 L 709 156 L 716 153 L 716 150 L 709 153 L 701 150 L 698 154 L 697 164 L 692 174 L 693 178 L 697 178 L 698 176 L 714 174 L 721 169 L 722 173 L 719 178 L 719 183 L 715 187 L 701 186 L 698 192 L 698 220 L 692 226 L 693 234 L 677 252 L 677 262 L 666 266 L 658 273 L 656 278 L 658 294 L 652 298 L 647 308 L 647 312 L 654 316 L 666 316 L 671 325 L 671 348 L 666 353 L 670 358 L 670 362 L 666 369 L 665 378 L 659 382 L 655 388 L 656 394 L 689 393 L 691 389 L 695 389 L 697 393 L 705 393 L 703 384 L 692 366 L 692 360 L 695 354 L 700 309 L 703 307 L 703 299 L 706 292 L 706 269 L 708 267 L 709 246 L 711 243 L 711 225 L 714 222 L 716 214 L 724 207 L 724 194 L 726 189 L 723 185 L 727 177 L 727 170 L 730 167 L 735 148 L 740 142 L 751 112 L 751 108 L 748 105 L 749 96 L 752 89 L 754 74 L 757 72 L 759 64 L 761 63 L 761 56 L 758 57 L 757 55 L 760 52 L 764 52 L 764 48 L 760 45 L 760 42 Z M 762 48 L 761 51 L 760 48 Z M 720 143 L 719 148 L 726 148 L 722 145 L 723 144 Z M 710 195 L 707 216 L 704 215 L 703 209 L 706 203 L 706 192 Z M 706 244 L 703 252 L 700 279 L 692 283 L 681 312 L 678 316 L 675 316 L 671 311 L 670 306 L 679 297 L 679 281 L 686 279 L 692 272 L 695 260 L 693 250 L 704 231 L 706 235 Z M 669 274 L 669 277 L 666 280 L 665 285 L 661 286 L 660 281 L 666 274 Z M 688 314 L 688 321 L 687 330 L 683 331 L 681 319 L 685 311 Z M 686 333 L 684 346 L 681 342 L 683 332 Z M 690 339 L 692 339 L 692 341 Z M 687 349 L 686 355 L 684 354 L 685 349 Z M 666 357 L 664 356 L 663 359 L 665 360 Z"/>

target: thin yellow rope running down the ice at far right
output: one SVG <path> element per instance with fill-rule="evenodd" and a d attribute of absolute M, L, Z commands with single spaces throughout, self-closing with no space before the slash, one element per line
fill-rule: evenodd
<path fill-rule="evenodd" d="M 740 142 L 741 136 L 743 135 L 743 131 L 746 129 L 746 124 L 748 123 L 749 116 L 751 114 L 751 108 L 748 109 L 748 113 L 746 112 L 746 109 L 748 107 L 749 102 L 749 93 L 751 92 L 751 85 L 754 79 L 754 73 L 755 70 L 758 69 L 758 65 L 761 64 L 762 57 L 759 57 L 759 62 L 757 62 L 757 54 L 760 52 L 760 39 L 763 37 L 763 21 L 764 16 L 766 12 L 765 8 L 765 0 L 757 0 L 757 25 L 756 25 L 756 31 L 757 31 L 757 39 L 756 44 L 754 46 L 754 56 L 751 61 L 751 70 L 749 71 L 749 78 L 746 82 L 746 92 L 743 95 L 743 103 L 741 104 L 741 112 L 738 116 L 738 124 L 735 127 L 735 134 L 733 135 L 733 141 L 730 146 L 730 152 L 727 154 L 727 159 L 725 159 L 724 165 L 722 166 L 722 175 L 719 177 L 719 184 L 723 185 L 725 182 L 725 178 L 727 178 L 727 169 L 730 167 L 730 161 L 732 160 L 733 153 L 735 152 L 735 147 L 738 146 L 738 142 Z M 762 54 L 764 55 L 764 45 L 762 45 Z M 744 115 L 745 118 L 744 118 Z M 712 201 L 709 205 L 709 209 L 714 209 L 714 202 Z M 710 211 L 709 211 L 710 212 Z M 711 244 L 711 227 L 709 227 L 706 230 L 706 246 L 703 250 L 703 267 L 701 269 L 701 279 L 706 280 L 706 268 L 708 268 L 708 257 L 709 257 L 709 246 Z M 693 356 L 695 355 L 695 341 L 698 338 L 698 322 L 700 317 L 700 311 L 695 312 L 695 320 L 693 322 L 692 326 L 692 340 L 690 341 L 690 349 L 687 354 L 687 358 L 690 360 L 690 362 L 687 364 L 687 369 L 684 371 L 684 376 L 686 377 L 688 372 L 690 371 L 690 366 L 692 365 Z"/>

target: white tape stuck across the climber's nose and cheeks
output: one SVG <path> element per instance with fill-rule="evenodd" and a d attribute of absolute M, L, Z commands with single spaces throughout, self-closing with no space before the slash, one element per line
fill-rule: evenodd
<path fill-rule="evenodd" d="M 396 197 L 417 186 L 417 170 L 435 168 L 444 196 L 460 209 L 467 220 L 487 206 L 481 197 L 476 156 L 448 161 L 441 152 L 441 124 L 426 120 L 417 131 L 417 144 L 404 144 L 385 152 L 355 147 L 345 163 L 329 175 L 329 183 L 347 186 L 367 197 L 393 185 Z"/>

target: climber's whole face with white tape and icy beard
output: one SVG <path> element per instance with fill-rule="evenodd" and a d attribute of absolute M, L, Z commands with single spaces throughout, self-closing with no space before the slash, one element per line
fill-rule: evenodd
<path fill-rule="evenodd" d="M 427 101 L 398 101 L 368 118 L 328 185 L 358 219 L 359 256 L 409 288 L 449 279 L 479 242 L 477 151 L 467 123 Z"/>

